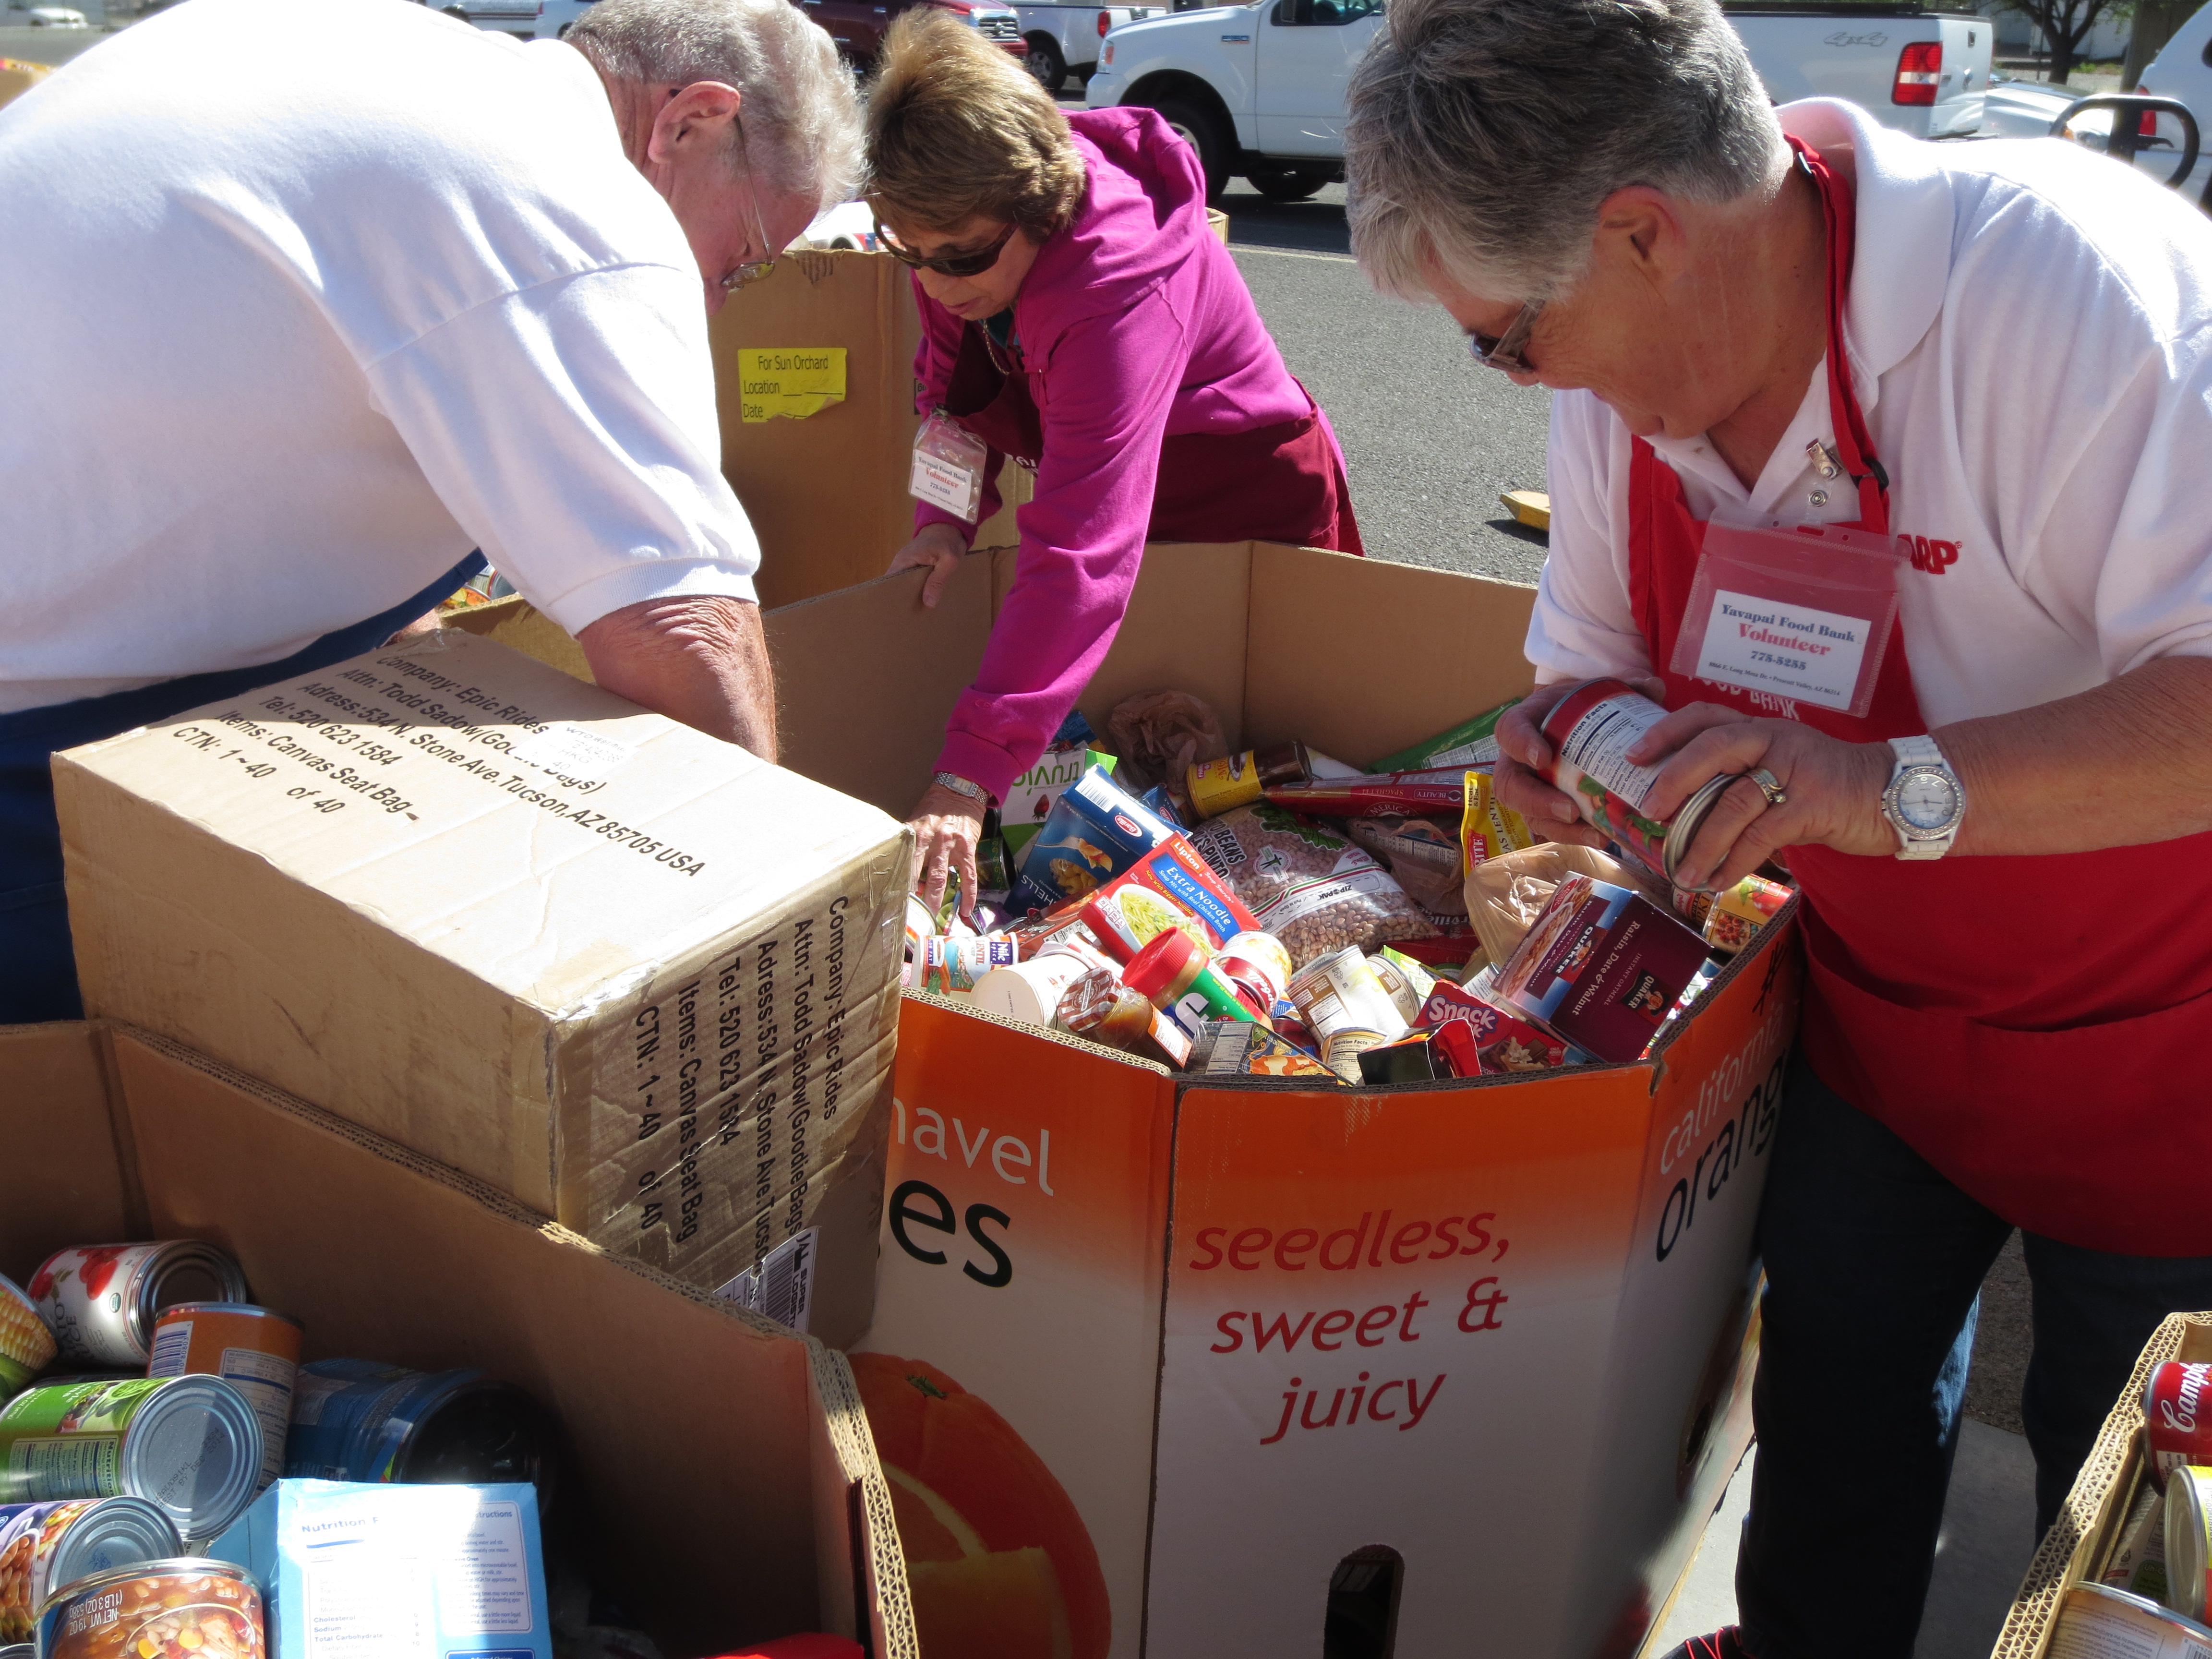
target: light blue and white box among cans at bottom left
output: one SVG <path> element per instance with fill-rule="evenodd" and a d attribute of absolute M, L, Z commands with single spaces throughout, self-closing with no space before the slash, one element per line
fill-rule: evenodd
<path fill-rule="evenodd" d="M 208 1557 L 261 1582 L 270 1659 L 553 1659 L 538 1491 L 279 1480 Z"/>

